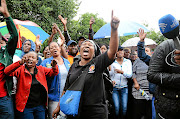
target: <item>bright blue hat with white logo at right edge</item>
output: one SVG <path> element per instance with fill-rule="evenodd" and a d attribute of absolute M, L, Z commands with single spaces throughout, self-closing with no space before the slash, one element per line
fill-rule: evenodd
<path fill-rule="evenodd" d="M 171 14 L 167 14 L 159 19 L 159 29 L 162 34 L 170 32 L 178 26 L 179 22 Z"/>

